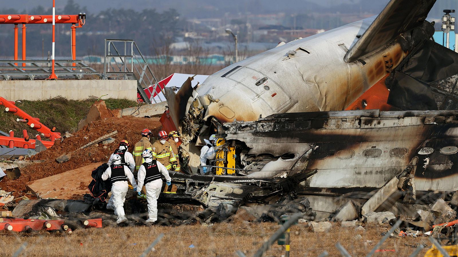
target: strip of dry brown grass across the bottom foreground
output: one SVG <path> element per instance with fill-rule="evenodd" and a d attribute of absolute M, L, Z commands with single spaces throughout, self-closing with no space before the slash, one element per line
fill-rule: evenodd
<path fill-rule="evenodd" d="M 334 223 L 329 233 L 312 233 L 306 225 L 291 227 L 291 256 L 340 256 L 340 242 L 352 256 L 365 256 L 382 238 L 389 226 L 368 227 L 365 231 L 344 229 Z M 40 232 L 36 235 L 3 233 L 0 236 L 0 256 L 12 256 L 27 242 L 20 256 L 139 256 L 160 233 L 165 236 L 148 256 L 236 256 L 241 250 L 246 256 L 254 252 L 278 229 L 274 223 L 234 222 L 213 225 L 130 226 L 106 225 L 103 229 L 76 230 L 71 235 Z M 360 234 L 362 239 L 354 240 Z M 409 256 L 415 243 L 431 246 L 425 237 L 388 238 L 380 247 L 395 252 L 379 252 L 374 256 Z M 194 247 L 190 247 L 191 244 Z M 423 256 L 428 247 L 420 252 Z M 25 255 L 24 255 L 25 254 Z M 283 246 L 274 244 L 266 256 L 281 256 Z"/>

